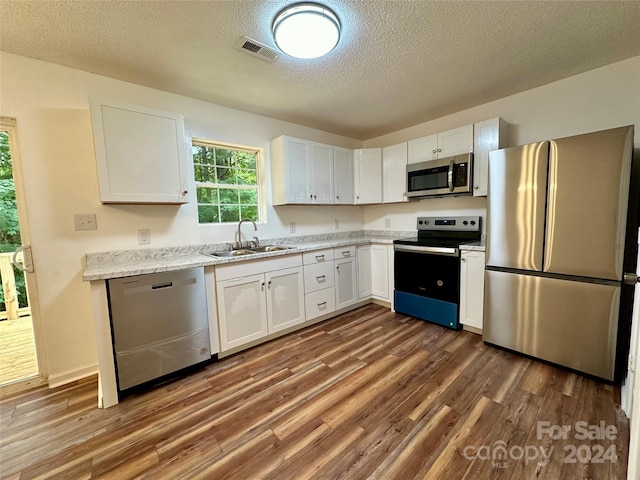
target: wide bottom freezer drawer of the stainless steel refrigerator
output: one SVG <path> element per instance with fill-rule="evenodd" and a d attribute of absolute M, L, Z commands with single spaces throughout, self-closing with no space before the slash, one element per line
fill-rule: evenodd
<path fill-rule="evenodd" d="M 613 380 L 620 287 L 485 271 L 485 342 Z"/>

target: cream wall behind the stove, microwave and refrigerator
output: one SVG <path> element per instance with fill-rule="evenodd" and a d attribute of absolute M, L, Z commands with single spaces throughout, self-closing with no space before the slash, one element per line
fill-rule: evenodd
<path fill-rule="evenodd" d="M 508 146 L 635 125 L 640 148 L 640 57 L 367 140 L 364 147 L 394 145 L 494 117 L 509 123 Z M 384 219 L 391 217 L 391 229 L 413 230 L 416 216 L 442 209 L 450 215 L 484 215 L 486 202 L 459 197 L 367 207 L 365 228 L 383 230 Z"/>

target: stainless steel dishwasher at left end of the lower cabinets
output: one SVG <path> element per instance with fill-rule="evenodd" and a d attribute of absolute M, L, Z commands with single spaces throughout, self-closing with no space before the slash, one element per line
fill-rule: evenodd
<path fill-rule="evenodd" d="M 211 359 L 204 269 L 107 282 L 118 390 Z"/>

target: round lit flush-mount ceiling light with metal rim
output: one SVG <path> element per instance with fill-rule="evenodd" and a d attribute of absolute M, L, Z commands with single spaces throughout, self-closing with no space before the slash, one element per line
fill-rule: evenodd
<path fill-rule="evenodd" d="M 340 39 L 340 20 L 319 3 L 296 3 L 276 15 L 272 25 L 278 48 L 296 58 L 321 57 Z"/>

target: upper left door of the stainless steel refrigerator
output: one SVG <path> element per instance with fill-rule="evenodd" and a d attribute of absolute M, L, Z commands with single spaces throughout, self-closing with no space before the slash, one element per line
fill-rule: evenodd
<path fill-rule="evenodd" d="M 542 270 L 549 142 L 489 153 L 487 265 Z"/>

